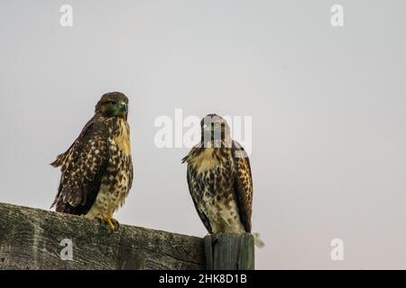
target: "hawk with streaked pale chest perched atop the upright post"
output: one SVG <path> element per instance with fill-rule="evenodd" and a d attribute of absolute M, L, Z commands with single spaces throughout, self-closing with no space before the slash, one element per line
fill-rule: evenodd
<path fill-rule="evenodd" d="M 245 150 L 216 114 L 200 125 L 200 143 L 182 159 L 198 216 L 209 233 L 251 233 L 253 179 Z"/>

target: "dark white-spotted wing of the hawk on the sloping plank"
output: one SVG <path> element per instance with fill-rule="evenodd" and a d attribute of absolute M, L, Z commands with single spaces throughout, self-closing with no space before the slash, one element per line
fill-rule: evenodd
<path fill-rule="evenodd" d="M 51 164 L 61 166 L 62 172 L 52 204 L 56 211 L 81 215 L 91 208 L 108 163 L 107 135 L 103 122 L 92 118 L 68 151 Z"/>

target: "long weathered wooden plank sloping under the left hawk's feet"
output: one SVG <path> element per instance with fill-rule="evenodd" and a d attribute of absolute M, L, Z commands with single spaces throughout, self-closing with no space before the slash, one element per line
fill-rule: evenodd
<path fill-rule="evenodd" d="M 72 240 L 73 260 L 60 241 Z M 0 269 L 204 269 L 202 238 L 0 203 Z"/>

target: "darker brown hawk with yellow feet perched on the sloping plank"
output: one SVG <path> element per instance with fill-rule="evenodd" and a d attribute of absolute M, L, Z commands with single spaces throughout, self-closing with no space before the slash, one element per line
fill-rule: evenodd
<path fill-rule="evenodd" d="M 113 213 L 133 183 L 130 127 L 125 94 L 104 94 L 78 139 L 51 163 L 61 166 L 56 211 L 84 215 L 115 229 Z"/>

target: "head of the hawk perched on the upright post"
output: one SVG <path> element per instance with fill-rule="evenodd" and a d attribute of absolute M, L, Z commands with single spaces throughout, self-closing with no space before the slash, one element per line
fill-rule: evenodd
<path fill-rule="evenodd" d="M 208 114 L 200 121 L 201 144 L 205 148 L 231 148 L 230 127 L 217 114 Z"/>

